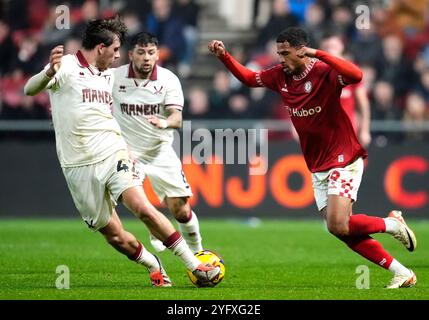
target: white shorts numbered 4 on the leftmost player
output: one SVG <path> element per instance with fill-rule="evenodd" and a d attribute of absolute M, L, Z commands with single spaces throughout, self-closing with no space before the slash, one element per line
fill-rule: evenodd
<path fill-rule="evenodd" d="M 141 178 L 125 150 L 92 165 L 62 169 L 76 208 L 95 231 L 109 223 L 125 190 L 141 186 Z"/>

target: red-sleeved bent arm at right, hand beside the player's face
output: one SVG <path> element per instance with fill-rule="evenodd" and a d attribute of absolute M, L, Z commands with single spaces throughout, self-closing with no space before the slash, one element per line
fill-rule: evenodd
<path fill-rule="evenodd" d="M 307 56 L 322 60 L 342 75 L 344 82 L 347 84 L 359 83 L 362 80 L 363 73 L 358 66 L 350 61 L 334 57 L 325 51 L 302 47 L 297 51 L 297 56 L 301 58 Z"/>

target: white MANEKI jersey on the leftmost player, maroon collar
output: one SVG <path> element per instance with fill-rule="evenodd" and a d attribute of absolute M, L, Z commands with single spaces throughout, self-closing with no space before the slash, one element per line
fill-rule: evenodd
<path fill-rule="evenodd" d="M 111 112 L 112 86 L 111 70 L 100 72 L 80 51 L 61 59 L 47 88 L 62 167 L 94 164 L 127 148 Z"/>

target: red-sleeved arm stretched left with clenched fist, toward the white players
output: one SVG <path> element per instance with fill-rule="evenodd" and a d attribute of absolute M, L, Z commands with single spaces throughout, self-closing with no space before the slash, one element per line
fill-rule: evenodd
<path fill-rule="evenodd" d="M 209 51 L 216 55 L 225 67 L 232 72 L 232 74 L 248 87 L 260 87 L 256 82 L 256 72 L 247 69 L 245 66 L 235 60 L 225 49 L 222 41 L 212 40 L 209 43 Z"/>

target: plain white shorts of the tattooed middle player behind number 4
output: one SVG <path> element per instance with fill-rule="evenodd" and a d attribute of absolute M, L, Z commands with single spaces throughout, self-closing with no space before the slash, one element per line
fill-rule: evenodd
<path fill-rule="evenodd" d="M 173 147 L 163 147 L 154 158 L 137 159 L 138 169 L 147 177 L 162 203 L 166 197 L 192 197 L 192 190 Z"/>

